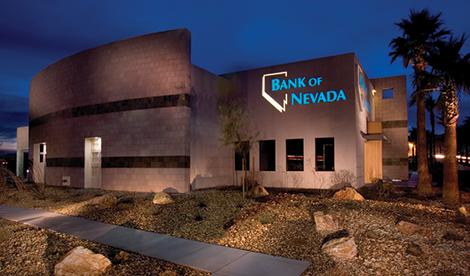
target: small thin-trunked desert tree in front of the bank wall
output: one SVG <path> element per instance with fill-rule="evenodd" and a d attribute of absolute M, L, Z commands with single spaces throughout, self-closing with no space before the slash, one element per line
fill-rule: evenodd
<path fill-rule="evenodd" d="M 258 133 L 250 124 L 246 105 L 232 94 L 224 95 L 218 101 L 221 141 L 242 158 L 242 191 L 245 197 L 246 171 L 249 169 L 246 168 L 246 153 L 253 147 Z"/>

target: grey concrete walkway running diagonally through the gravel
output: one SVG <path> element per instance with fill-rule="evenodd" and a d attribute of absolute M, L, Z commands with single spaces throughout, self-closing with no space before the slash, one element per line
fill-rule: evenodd
<path fill-rule="evenodd" d="M 309 262 L 175 238 L 38 209 L 0 205 L 0 217 L 71 234 L 214 275 L 300 275 Z"/>

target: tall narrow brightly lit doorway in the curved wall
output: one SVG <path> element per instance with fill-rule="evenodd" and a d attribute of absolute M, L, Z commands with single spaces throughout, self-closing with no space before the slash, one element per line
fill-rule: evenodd
<path fill-rule="evenodd" d="M 85 138 L 85 188 L 101 188 L 101 138 Z"/>

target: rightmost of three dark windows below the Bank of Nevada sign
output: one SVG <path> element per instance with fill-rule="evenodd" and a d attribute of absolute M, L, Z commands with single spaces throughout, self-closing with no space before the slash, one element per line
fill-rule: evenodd
<path fill-rule="evenodd" d="M 315 167 L 317 171 L 335 170 L 334 138 L 315 139 Z"/>

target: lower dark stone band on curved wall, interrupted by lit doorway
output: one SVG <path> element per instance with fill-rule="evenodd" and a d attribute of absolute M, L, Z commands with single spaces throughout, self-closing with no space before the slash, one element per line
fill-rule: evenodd
<path fill-rule="evenodd" d="M 84 167 L 83 157 L 47 158 L 47 167 Z M 102 157 L 101 168 L 189 168 L 190 157 L 178 156 L 120 156 Z"/>

